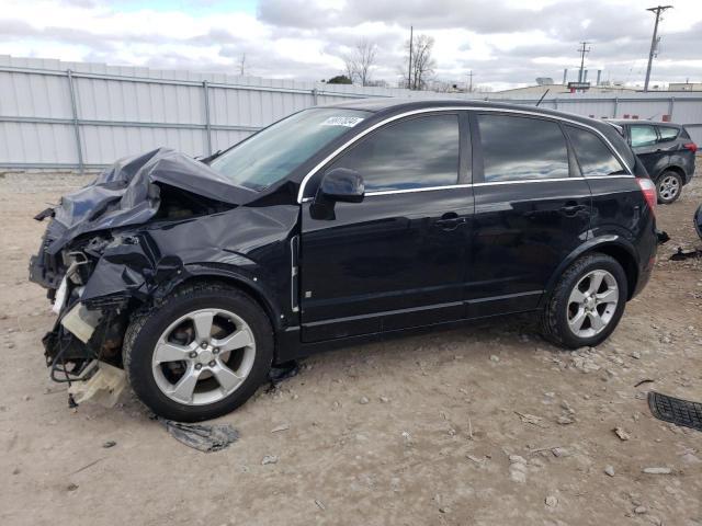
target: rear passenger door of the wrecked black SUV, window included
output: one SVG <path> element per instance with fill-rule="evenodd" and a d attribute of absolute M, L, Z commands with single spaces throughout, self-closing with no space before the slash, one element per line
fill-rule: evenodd
<path fill-rule="evenodd" d="M 590 188 L 557 121 L 510 113 L 471 116 L 474 243 L 468 315 L 537 307 L 558 264 L 587 238 Z"/>

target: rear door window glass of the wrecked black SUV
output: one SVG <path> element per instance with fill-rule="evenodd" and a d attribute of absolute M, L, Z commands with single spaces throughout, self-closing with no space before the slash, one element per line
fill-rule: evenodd
<path fill-rule="evenodd" d="M 568 149 L 552 121 L 478 115 L 485 181 L 567 178 Z"/>

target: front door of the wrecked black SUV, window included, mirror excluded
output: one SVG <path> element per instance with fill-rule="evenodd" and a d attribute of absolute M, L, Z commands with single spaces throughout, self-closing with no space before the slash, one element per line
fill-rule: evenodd
<path fill-rule="evenodd" d="M 458 112 L 407 117 L 324 169 L 354 170 L 365 196 L 335 203 L 324 218 L 312 202 L 302 205 L 303 341 L 464 318 L 474 208 L 466 135 Z"/>

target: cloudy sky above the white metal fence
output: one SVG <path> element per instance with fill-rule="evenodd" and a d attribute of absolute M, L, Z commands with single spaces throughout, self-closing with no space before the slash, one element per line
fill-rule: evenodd
<path fill-rule="evenodd" d="M 652 84 L 702 81 L 700 0 L 668 0 Z M 536 77 L 643 85 L 654 14 L 641 0 L 3 0 L 0 54 L 299 80 L 343 72 L 362 39 L 396 85 L 410 25 L 434 38 L 434 78 L 492 90 Z"/>

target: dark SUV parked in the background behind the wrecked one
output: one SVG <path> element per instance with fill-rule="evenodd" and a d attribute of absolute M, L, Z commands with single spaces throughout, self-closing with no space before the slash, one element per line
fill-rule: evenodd
<path fill-rule="evenodd" d="M 649 121 L 610 121 L 622 127 L 634 153 L 656 183 L 658 203 L 669 204 L 680 197 L 682 186 L 694 174 L 698 146 L 684 126 Z"/>

